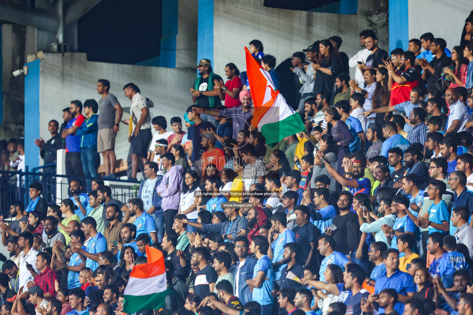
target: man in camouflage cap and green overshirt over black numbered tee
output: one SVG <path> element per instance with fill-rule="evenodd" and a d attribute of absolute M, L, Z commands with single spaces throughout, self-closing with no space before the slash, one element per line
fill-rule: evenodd
<path fill-rule="evenodd" d="M 212 72 L 212 66 L 208 59 L 201 59 L 197 70 L 199 77 L 195 79 L 194 85 L 191 87 L 192 102 L 201 108 L 219 107 L 221 102 L 219 91 L 215 88 L 215 80 L 221 81 L 222 78 Z"/>

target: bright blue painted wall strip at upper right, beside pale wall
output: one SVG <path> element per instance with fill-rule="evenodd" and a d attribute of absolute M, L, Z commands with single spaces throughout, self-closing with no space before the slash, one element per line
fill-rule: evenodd
<path fill-rule="evenodd" d="M 389 51 L 409 45 L 409 0 L 389 0 Z"/>

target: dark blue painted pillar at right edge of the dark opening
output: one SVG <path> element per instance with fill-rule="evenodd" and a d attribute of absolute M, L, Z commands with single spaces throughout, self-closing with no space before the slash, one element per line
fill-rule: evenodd
<path fill-rule="evenodd" d="M 162 37 L 159 67 L 176 67 L 178 0 L 162 1 Z"/>

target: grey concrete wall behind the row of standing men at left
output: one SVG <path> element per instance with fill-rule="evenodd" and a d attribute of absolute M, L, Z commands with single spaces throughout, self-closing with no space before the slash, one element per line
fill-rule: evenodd
<path fill-rule="evenodd" d="M 140 87 L 141 94 L 154 102 L 154 108 L 150 109 L 151 117 L 162 115 L 168 123 L 173 116 L 182 118 L 185 109 L 191 104 L 189 88 L 195 79 L 194 69 L 91 62 L 87 61 L 84 53 L 66 53 L 64 56 L 45 53 L 40 68 L 38 136 L 42 136 L 44 140 L 50 138 L 48 121 L 56 119 L 62 122 L 62 109 L 69 107 L 71 100 L 99 100 L 100 96 L 96 93 L 96 82 L 99 78 L 110 80 L 110 92 L 118 98 L 123 107 L 123 119 L 130 117 L 131 101 L 124 96 L 122 88 L 133 82 Z M 128 148 L 128 126 L 121 124 L 116 138 L 117 159 L 126 159 Z M 39 163 L 43 163 L 40 158 Z M 31 168 L 35 165 L 29 166 Z"/>

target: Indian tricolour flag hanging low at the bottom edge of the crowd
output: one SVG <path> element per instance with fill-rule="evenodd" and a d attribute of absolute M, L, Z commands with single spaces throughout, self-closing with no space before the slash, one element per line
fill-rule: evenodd
<path fill-rule="evenodd" d="M 123 291 L 123 312 L 136 313 L 142 309 L 160 309 L 166 299 L 166 268 L 163 253 L 146 247 L 147 264 L 133 267 Z"/>

